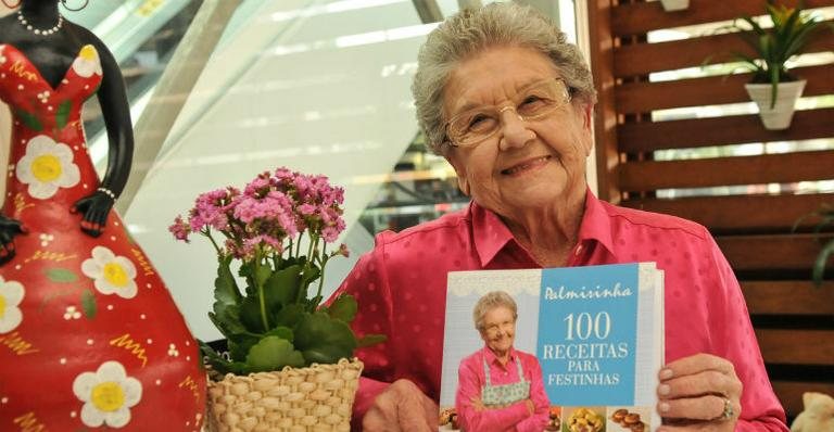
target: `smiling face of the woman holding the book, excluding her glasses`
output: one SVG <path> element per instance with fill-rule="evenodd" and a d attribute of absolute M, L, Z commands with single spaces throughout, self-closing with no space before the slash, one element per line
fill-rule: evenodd
<path fill-rule="evenodd" d="M 452 73 L 443 91 L 444 116 L 453 118 L 472 106 L 516 109 L 514 101 L 526 88 L 556 78 L 549 59 L 533 49 L 486 49 Z M 585 160 L 593 145 L 591 109 L 573 101 L 530 122 L 503 110 L 497 134 L 475 147 L 448 150 L 460 189 L 504 216 L 584 194 Z"/>

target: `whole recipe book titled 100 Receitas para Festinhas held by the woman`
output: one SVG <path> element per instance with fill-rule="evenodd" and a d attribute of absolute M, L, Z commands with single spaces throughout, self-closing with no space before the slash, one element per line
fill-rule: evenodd
<path fill-rule="evenodd" d="M 440 431 L 660 425 L 655 263 L 453 271 L 445 307 Z"/>

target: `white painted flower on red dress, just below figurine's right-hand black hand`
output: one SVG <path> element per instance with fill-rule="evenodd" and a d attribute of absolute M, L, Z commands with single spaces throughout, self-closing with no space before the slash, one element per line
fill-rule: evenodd
<path fill-rule="evenodd" d="M 81 263 L 81 272 L 96 281 L 96 289 L 102 294 L 115 293 L 122 298 L 136 296 L 136 266 L 108 247 L 93 247 L 92 257 Z"/>

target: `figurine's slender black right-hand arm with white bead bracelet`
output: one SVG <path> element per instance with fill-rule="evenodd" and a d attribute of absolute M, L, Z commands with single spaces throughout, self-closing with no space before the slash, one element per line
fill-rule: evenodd
<path fill-rule="evenodd" d="M 92 194 L 78 200 L 73 212 L 84 214 L 81 230 L 98 237 L 104 229 L 115 199 L 122 193 L 130 175 L 134 157 L 134 130 L 130 122 L 130 105 L 127 101 L 125 81 L 116 60 L 104 43 L 86 29 L 88 41 L 96 47 L 101 60 L 103 78 L 98 98 L 108 131 L 108 168 L 99 189 Z"/>

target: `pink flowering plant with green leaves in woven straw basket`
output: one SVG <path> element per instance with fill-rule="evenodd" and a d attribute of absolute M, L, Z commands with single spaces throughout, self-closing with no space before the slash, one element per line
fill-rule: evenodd
<path fill-rule="evenodd" d="M 181 241 L 194 232 L 206 237 L 217 253 L 208 317 L 228 353 L 200 343 L 215 429 L 350 428 L 363 367 L 354 350 L 384 336 L 356 338 L 351 295 L 321 303 L 328 261 L 348 256 L 344 244 L 327 250 L 344 229 L 342 202 L 343 190 L 327 177 L 278 168 L 242 191 L 200 194 L 188 216 L 169 227 Z"/>

